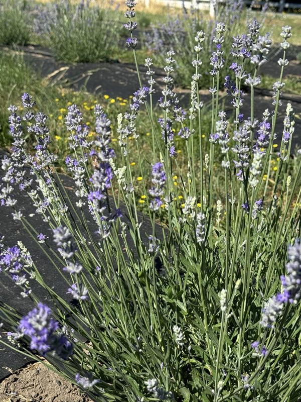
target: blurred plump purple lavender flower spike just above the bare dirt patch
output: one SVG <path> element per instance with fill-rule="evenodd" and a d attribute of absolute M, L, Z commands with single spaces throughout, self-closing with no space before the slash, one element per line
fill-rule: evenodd
<path fill-rule="evenodd" d="M 53 353 L 66 360 L 72 355 L 73 345 L 59 333 L 59 323 L 51 318 L 50 308 L 42 303 L 22 318 L 19 330 L 30 338 L 30 348 L 43 356 Z"/>

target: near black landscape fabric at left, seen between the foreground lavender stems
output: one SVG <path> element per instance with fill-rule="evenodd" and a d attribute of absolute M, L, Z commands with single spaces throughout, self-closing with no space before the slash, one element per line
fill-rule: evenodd
<path fill-rule="evenodd" d="M 0 150 L 0 160 L 6 154 L 8 155 L 6 151 Z M 3 171 L 0 170 L 0 179 L 2 174 Z M 61 179 L 72 202 L 76 198 L 75 185 L 72 179 L 66 175 L 61 175 Z M 43 222 L 41 216 L 35 214 L 35 207 L 32 206 L 29 196 L 22 191 L 16 191 L 14 196 L 18 200 L 18 210 L 20 210 L 24 216 L 29 217 L 29 222 L 38 233 L 45 234 L 49 237 L 49 241 L 51 241 L 52 231 L 49 229 L 48 225 Z M 123 208 L 121 206 L 121 211 L 122 210 Z M 94 228 L 93 220 L 89 215 L 87 215 L 86 218 L 88 225 L 90 225 L 91 233 L 93 233 L 93 230 L 96 229 Z M 126 222 L 125 214 L 123 214 L 122 219 Z M 150 234 L 153 231 L 152 225 L 149 221 L 145 220 L 141 214 L 138 215 L 138 219 L 139 222 L 142 222 L 141 235 L 146 244 L 147 234 Z M 8 243 L 10 247 L 16 245 L 17 242 L 21 240 L 31 253 L 32 259 L 39 267 L 40 273 L 46 283 L 48 283 L 49 286 L 53 286 L 61 297 L 68 302 L 71 302 L 71 297 L 66 294 L 66 282 L 62 280 L 61 275 L 56 271 L 49 259 L 45 257 L 43 251 L 37 247 L 37 243 L 22 227 L 20 221 L 13 220 L 12 210 L 7 207 L 0 207 L 0 238 L 2 236 L 5 236 L 6 243 Z M 158 237 L 160 237 L 159 234 Z M 132 240 L 130 236 L 128 236 L 127 239 L 130 248 L 134 250 L 134 245 L 131 244 Z M 55 248 L 54 244 L 53 247 Z M 31 287 L 41 302 L 50 307 L 52 306 L 48 293 L 41 286 L 32 282 Z M 15 285 L 10 278 L 0 273 L 0 303 L 1 302 L 12 306 L 22 315 L 27 314 L 34 307 L 29 298 L 23 298 L 20 295 L 20 288 Z M 5 335 L 3 335 L 3 340 L 6 341 Z M 30 361 L 29 358 L 25 358 L 21 353 L 15 352 L 11 348 L 0 343 L 0 380 L 9 375 L 10 372 L 23 367 Z"/>

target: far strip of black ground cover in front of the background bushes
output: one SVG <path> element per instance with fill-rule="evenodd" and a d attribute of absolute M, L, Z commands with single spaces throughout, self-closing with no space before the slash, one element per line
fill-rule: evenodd
<path fill-rule="evenodd" d="M 281 53 L 281 52 L 280 52 Z M 271 52 L 271 57 L 268 62 L 261 67 L 260 73 L 271 74 L 278 77 L 280 67 L 277 64 L 277 60 L 280 57 L 278 50 Z M 296 49 L 289 50 L 287 54 L 288 60 L 294 60 Z M 66 64 L 58 62 L 51 55 L 51 52 L 45 48 L 39 47 L 27 47 L 24 48 L 24 58 L 26 62 L 43 77 L 50 78 L 50 82 L 58 83 L 62 87 L 70 87 L 74 90 L 84 88 L 88 92 L 96 94 L 108 94 L 111 97 L 120 96 L 127 98 L 132 95 L 139 87 L 136 68 L 134 64 L 121 64 L 121 63 L 76 63 Z M 145 75 L 146 69 L 141 66 L 141 78 L 142 83 L 147 85 L 147 76 Z M 161 69 L 156 70 L 155 79 L 157 84 L 155 86 L 156 93 L 154 95 L 154 101 L 157 102 L 161 94 L 161 90 L 164 87 L 162 80 L 164 71 Z M 284 69 L 285 75 L 299 75 L 301 79 L 301 65 L 289 64 Z M 246 88 L 247 89 L 247 88 Z M 176 88 L 176 92 L 179 95 L 180 103 L 182 106 L 188 107 L 190 104 L 190 93 L 188 90 Z M 272 93 L 270 90 L 255 90 L 255 117 L 260 121 L 262 113 L 265 109 L 272 111 Z M 202 91 L 201 100 L 205 104 L 210 105 L 211 95 L 207 90 Z M 228 113 L 234 113 L 234 108 L 230 104 L 231 98 L 229 96 L 221 98 L 221 108 Z M 295 132 L 292 139 L 292 150 L 295 146 L 301 145 L 301 94 L 282 95 L 282 106 L 278 110 L 278 118 L 276 123 L 276 134 L 279 138 L 278 144 L 281 139 L 283 130 L 283 119 L 285 117 L 285 110 L 287 103 L 290 102 L 292 108 L 295 111 Z M 250 94 L 246 93 L 244 96 L 243 106 L 241 112 L 245 114 L 245 118 L 249 116 L 250 111 Z M 277 141 L 276 141 L 277 142 Z"/>

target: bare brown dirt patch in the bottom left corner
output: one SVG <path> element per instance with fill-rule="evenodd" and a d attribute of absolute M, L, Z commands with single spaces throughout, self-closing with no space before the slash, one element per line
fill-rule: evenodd
<path fill-rule="evenodd" d="M 79 388 L 41 363 L 20 369 L 0 383 L 0 402 L 92 402 Z"/>

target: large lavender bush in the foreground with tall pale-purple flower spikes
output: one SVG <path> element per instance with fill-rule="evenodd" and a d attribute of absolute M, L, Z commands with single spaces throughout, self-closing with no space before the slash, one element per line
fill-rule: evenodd
<path fill-rule="evenodd" d="M 135 3 L 127 0 L 126 6 L 127 45 L 136 61 Z M 291 30 L 283 27 L 274 102 L 259 121 L 254 115 L 254 86 L 260 82 L 257 68 L 269 46 L 259 28 L 253 21 L 245 36 L 233 40 L 236 61 L 226 80 L 236 111 L 232 122 L 220 107 L 216 89 L 226 31 L 223 23 L 216 25 L 209 153 L 203 148 L 199 91 L 202 31 L 195 37 L 187 111 L 173 90 L 175 53 L 167 53 L 159 101 L 162 140 L 155 135 L 150 59 L 145 60 L 147 86 L 137 66 L 140 88 L 113 128 L 119 135 L 118 159 L 111 145 L 111 122 L 101 106 L 94 109 L 93 140 L 77 106 L 70 106 L 65 118 L 70 147 L 66 166 L 76 185 L 75 202 L 56 173 L 56 156 L 49 152 L 47 116 L 35 111 L 28 93 L 22 97 L 22 116 L 10 107 L 14 143 L 12 155 L 2 160 L 2 205 L 12 209 L 12 218 L 52 262 L 72 303 L 46 283 L 26 244 L 9 244 L 10 239 L 3 238 L 2 273 L 36 305 L 21 317 L 3 302 L 3 329 L 10 331 L 12 348 L 41 360 L 95 401 L 299 398 L 301 160 L 300 152 L 290 159 L 290 104 L 278 133 L 276 166 L 272 164 Z M 246 58 L 252 63 L 250 71 L 245 70 Z M 240 111 L 243 82 L 250 86 L 249 116 Z M 129 137 L 140 146 L 136 121 L 142 108 L 153 137 L 148 151 L 152 183 L 142 177 L 147 194 L 143 216 L 137 211 L 129 162 Z M 176 123 L 181 126 L 178 133 Z M 27 132 L 36 138 L 33 155 L 24 139 Z M 186 176 L 179 173 L 176 135 L 186 144 Z M 196 146 L 199 158 L 194 157 Z M 219 174 L 224 177 L 221 198 L 213 191 Z M 52 236 L 39 233 L 21 213 L 16 188 L 31 198 Z M 146 233 L 145 216 L 150 223 Z M 48 292 L 51 306 L 38 299 L 35 283 Z"/>

